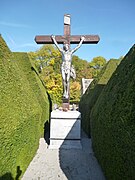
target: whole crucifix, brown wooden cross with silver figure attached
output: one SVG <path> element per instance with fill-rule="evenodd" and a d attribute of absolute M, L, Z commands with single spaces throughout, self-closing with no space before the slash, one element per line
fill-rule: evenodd
<path fill-rule="evenodd" d="M 72 54 L 83 44 L 97 44 L 100 38 L 98 35 L 71 35 L 70 34 L 70 15 L 64 15 L 64 35 L 36 36 L 37 44 L 55 44 L 62 54 L 62 80 L 63 80 L 63 109 L 69 109 L 69 78 L 75 78 L 75 70 L 71 65 Z M 63 44 L 63 49 L 58 44 Z M 70 44 L 78 44 L 73 50 L 70 49 Z"/>

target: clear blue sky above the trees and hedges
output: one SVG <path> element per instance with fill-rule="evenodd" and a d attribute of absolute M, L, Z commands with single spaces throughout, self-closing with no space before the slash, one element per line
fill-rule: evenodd
<path fill-rule="evenodd" d="M 0 34 L 11 51 L 36 51 L 36 35 L 63 35 L 64 14 L 71 15 L 72 35 L 100 36 L 75 53 L 82 59 L 119 58 L 135 43 L 135 0 L 3 0 Z"/>

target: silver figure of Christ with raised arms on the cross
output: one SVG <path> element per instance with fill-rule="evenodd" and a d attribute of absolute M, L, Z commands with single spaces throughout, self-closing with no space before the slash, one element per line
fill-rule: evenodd
<path fill-rule="evenodd" d="M 55 36 L 52 35 L 51 37 L 52 37 L 54 44 L 56 45 L 56 47 L 62 54 L 61 73 L 62 73 L 63 91 L 64 91 L 63 97 L 68 99 L 69 98 L 69 79 L 70 79 L 70 77 L 72 77 L 73 79 L 76 78 L 75 69 L 74 69 L 73 65 L 71 65 L 72 54 L 81 47 L 83 41 L 85 40 L 85 37 L 82 36 L 78 46 L 76 46 L 72 50 L 69 48 L 68 44 L 64 44 L 63 49 L 62 49 L 58 45 L 58 43 L 55 39 Z"/>

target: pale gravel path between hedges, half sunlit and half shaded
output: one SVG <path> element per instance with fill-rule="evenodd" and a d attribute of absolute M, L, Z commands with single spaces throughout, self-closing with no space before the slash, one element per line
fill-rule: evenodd
<path fill-rule="evenodd" d="M 105 180 L 94 156 L 91 140 L 82 133 L 82 149 L 48 149 L 40 139 L 39 149 L 22 180 Z"/>

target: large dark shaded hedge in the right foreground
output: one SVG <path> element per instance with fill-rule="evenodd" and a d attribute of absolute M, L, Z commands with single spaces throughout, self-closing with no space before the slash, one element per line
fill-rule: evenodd
<path fill-rule="evenodd" d="M 107 179 L 135 179 L 135 45 L 92 109 L 91 134 Z"/>

